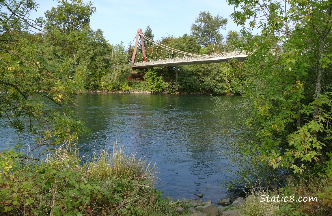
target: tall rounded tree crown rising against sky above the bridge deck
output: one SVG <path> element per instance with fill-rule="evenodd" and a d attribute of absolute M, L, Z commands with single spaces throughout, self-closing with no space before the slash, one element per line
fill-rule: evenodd
<path fill-rule="evenodd" d="M 223 39 L 219 30 L 225 29 L 227 19 L 223 16 L 212 16 L 210 12 L 200 12 L 198 17 L 195 19 L 195 23 L 191 26 L 191 33 L 197 38 L 199 44 L 202 47 L 214 43 L 215 40 L 221 41 Z"/>

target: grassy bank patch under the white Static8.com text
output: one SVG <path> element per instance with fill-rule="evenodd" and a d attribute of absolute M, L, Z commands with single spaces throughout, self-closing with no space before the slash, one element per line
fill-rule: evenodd
<path fill-rule="evenodd" d="M 301 176 L 300 178 L 290 177 L 286 185 L 274 190 L 267 190 L 261 185 L 251 186 L 251 195 L 247 198 L 246 205 L 242 207 L 239 215 L 332 215 L 331 180 L 314 175 Z M 261 198 L 262 195 L 265 195 L 263 196 L 264 201 Z M 268 195 L 270 196 L 269 202 L 266 198 Z M 291 201 L 291 196 L 293 201 Z M 312 197 L 310 201 L 307 200 L 309 197 Z"/>

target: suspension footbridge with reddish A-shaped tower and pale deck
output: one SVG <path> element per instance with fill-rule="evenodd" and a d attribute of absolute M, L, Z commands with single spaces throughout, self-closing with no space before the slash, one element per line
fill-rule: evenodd
<path fill-rule="evenodd" d="M 244 61 L 249 54 L 244 50 L 234 50 L 222 53 L 212 52 L 212 54 L 205 55 L 188 53 L 148 38 L 143 34 L 141 28 L 137 29 L 135 39 L 135 46 L 130 46 L 129 48 L 129 54 L 132 54 L 130 64 L 133 69 L 219 63 L 229 61 L 232 58 Z M 144 44 L 144 41 L 146 44 Z"/>

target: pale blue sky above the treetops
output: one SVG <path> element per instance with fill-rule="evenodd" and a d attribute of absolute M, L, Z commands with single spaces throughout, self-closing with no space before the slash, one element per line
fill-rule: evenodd
<path fill-rule="evenodd" d="M 53 0 L 35 0 L 38 11 L 30 19 L 44 16 L 44 12 L 59 5 Z M 83 0 L 84 1 L 84 0 Z M 87 2 L 86 0 L 84 2 Z M 220 33 L 226 35 L 229 30 L 239 30 L 233 23 L 230 14 L 234 7 L 227 5 L 226 0 L 94 0 L 96 12 L 91 16 L 90 26 L 104 32 L 110 44 L 124 45 L 131 43 L 138 28 L 143 32 L 149 25 L 154 39 L 161 37 L 179 37 L 190 34 L 190 27 L 199 13 L 209 11 L 212 16 L 223 16 L 228 19 L 226 29 Z"/>

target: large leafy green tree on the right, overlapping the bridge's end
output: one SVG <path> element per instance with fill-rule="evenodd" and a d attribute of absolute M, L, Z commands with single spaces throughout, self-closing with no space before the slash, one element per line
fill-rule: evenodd
<path fill-rule="evenodd" d="M 257 139 L 242 153 L 284 169 L 279 173 L 324 166 L 332 147 L 331 1 L 228 3 L 242 9 L 231 16 L 250 38 L 246 47 L 252 52 L 243 90 L 251 112 L 244 123 Z M 253 28 L 261 35 L 252 36 Z"/>

